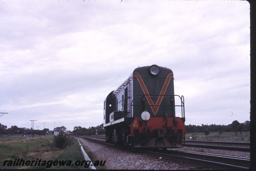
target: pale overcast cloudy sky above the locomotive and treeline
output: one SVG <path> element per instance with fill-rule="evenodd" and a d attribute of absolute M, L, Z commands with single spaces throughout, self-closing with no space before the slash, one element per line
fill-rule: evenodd
<path fill-rule="evenodd" d="M 172 69 L 186 124 L 250 120 L 249 3 L 0 0 L 8 128 L 99 125 L 108 93 L 153 64 Z"/>

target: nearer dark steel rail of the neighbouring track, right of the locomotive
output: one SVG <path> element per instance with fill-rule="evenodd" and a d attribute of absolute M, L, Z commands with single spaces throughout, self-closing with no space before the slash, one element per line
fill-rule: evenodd
<path fill-rule="evenodd" d="M 236 147 L 236 146 L 224 146 L 224 145 L 205 145 L 205 144 L 183 144 L 187 147 L 201 147 L 212 149 L 224 149 L 224 150 L 236 150 L 236 151 L 250 151 L 250 147 Z"/>

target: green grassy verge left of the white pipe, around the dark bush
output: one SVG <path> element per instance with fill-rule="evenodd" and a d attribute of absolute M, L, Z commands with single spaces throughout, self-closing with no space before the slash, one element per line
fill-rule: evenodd
<path fill-rule="evenodd" d="M 87 169 L 83 166 L 3 166 L 4 160 L 71 160 L 74 164 L 77 160 L 84 160 L 77 139 L 72 138 L 69 146 L 59 149 L 52 144 L 53 136 L 45 136 L 30 139 L 24 142 L 0 144 L 0 169 Z"/>

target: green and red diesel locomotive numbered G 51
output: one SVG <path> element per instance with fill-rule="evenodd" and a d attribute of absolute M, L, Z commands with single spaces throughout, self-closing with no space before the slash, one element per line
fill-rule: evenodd
<path fill-rule="evenodd" d="M 140 148 L 182 147 L 184 97 L 174 95 L 173 80 L 172 70 L 166 67 L 134 69 L 104 100 L 106 141 Z M 175 106 L 181 108 L 181 117 L 176 117 Z"/>

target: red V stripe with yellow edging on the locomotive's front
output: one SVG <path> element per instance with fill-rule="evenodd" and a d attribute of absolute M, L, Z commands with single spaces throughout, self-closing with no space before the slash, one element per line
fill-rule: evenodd
<path fill-rule="evenodd" d="M 148 93 L 148 89 L 147 89 L 146 85 L 144 84 L 144 82 L 143 82 L 143 80 L 142 80 L 140 74 L 137 73 L 137 72 L 134 72 L 133 75 L 138 79 L 138 81 L 139 81 L 139 83 L 140 83 L 140 87 L 142 88 L 144 94 L 149 94 L 149 93 Z M 162 90 L 161 90 L 161 92 L 160 92 L 160 95 L 164 95 L 164 94 L 165 94 L 165 91 L 166 91 L 166 89 L 167 89 L 167 87 L 168 87 L 168 84 L 169 84 L 169 82 L 171 81 L 171 78 L 172 78 L 172 77 L 173 77 L 173 73 L 170 73 L 169 75 L 167 75 L 167 78 L 166 78 L 166 80 L 165 80 L 165 82 L 164 82 L 164 85 L 163 85 L 163 87 L 162 87 Z M 156 101 L 156 104 L 153 103 L 153 100 L 151 99 L 151 97 L 150 97 L 149 95 L 146 95 L 146 98 L 147 98 L 147 100 L 148 100 L 149 105 L 151 105 L 150 107 L 151 107 L 151 109 L 152 109 L 154 115 L 156 116 L 156 113 L 157 113 L 157 111 L 158 111 L 159 106 L 155 106 L 155 105 L 160 105 L 161 102 L 162 102 L 162 100 L 163 100 L 163 98 L 164 98 L 164 96 L 158 96 L 157 101 Z"/>

